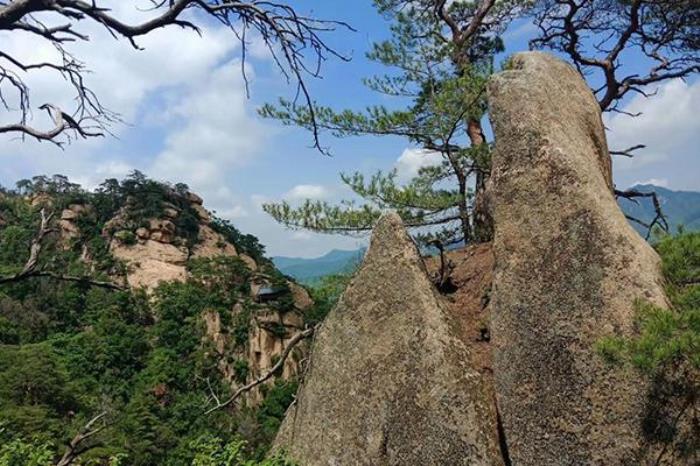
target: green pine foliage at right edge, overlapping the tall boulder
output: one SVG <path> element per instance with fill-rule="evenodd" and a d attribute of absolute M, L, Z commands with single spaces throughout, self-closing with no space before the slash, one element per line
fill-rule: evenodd
<path fill-rule="evenodd" d="M 655 441 L 674 442 L 690 461 L 700 449 L 695 411 L 700 397 L 700 233 L 665 236 L 656 250 L 671 306 L 637 302 L 638 334 L 605 337 L 598 351 L 611 364 L 630 366 L 650 380 L 645 432 Z M 688 431 L 678 427 L 685 417 L 694 419 Z"/>

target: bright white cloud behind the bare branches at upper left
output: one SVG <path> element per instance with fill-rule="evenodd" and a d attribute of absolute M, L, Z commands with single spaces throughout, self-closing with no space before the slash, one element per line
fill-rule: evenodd
<path fill-rule="evenodd" d="M 147 0 L 111 2 L 108 4 L 118 18 L 135 22 L 153 16 L 139 11 Z M 152 5 L 151 5 L 152 6 Z M 48 24 L 56 23 L 52 15 L 40 15 Z M 202 38 L 193 31 L 178 27 L 157 29 L 137 39 L 134 49 L 126 40 L 116 40 L 100 24 L 84 22 L 78 26 L 90 41 L 76 41 L 66 48 L 90 71 L 85 75 L 87 85 L 99 96 L 106 107 L 119 112 L 127 121 L 133 121 L 144 97 L 167 86 L 190 83 L 207 76 L 208 70 L 237 49 L 238 42 L 224 27 L 202 28 Z M 58 52 L 47 42 L 21 31 L 0 33 L 3 51 L 25 63 L 58 61 Z M 74 92 L 69 83 L 51 71 L 22 74 L 31 89 L 32 106 L 45 102 L 58 104 L 71 112 Z M 14 113 L 14 112 L 10 112 Z M 16 114 L 8 117 L 16 119 Z M 35 114 L 37 125 L 47 124 L 42 114 Z M 125 127 L 115 127 L 121 132 Z"/>

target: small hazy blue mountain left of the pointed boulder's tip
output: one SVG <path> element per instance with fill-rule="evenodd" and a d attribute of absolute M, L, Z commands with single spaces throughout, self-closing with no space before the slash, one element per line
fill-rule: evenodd
<path fill-rule="evenodd" d="M 351 269 L 362 260 L 364 254 L 365 248 L 352 251 L 334 249 L 313 259 L 277 256 L 272 258 L 272 262 L 285 275 L 304 284 L 313 284 L 326 275 Z"/>

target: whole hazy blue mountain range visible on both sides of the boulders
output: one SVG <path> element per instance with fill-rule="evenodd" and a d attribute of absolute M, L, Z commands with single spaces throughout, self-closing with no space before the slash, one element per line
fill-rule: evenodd
<path fill-rule="evenodd" d="M 675 233 L 679 226 L 688 230 L 700 230 L 700 192 L 673 191 L 660 186 L 643 184 L 632 189 L 642 192 L 656 191 L 661 203 L 661 209 L 666 216 L 671 232 Z M 651 198 L 634 201 L 620 199 L 620 207 L 630 217 L 649 223 L 655 216 Z M 631 222 L 641 234 L 646 235 L 646 229 Z M 347 271 L 362 260 L 365 248 L 352 251 L 334 249 L 328 254 L 312 259 L 294 257 L 273 257 L 272 262 L 282 273 L 294 277 L 301 283 L 313 284 L 326 275 Z"/>

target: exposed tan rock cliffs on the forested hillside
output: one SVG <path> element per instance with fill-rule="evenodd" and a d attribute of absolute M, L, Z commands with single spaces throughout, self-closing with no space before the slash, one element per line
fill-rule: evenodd
<path fill-rule="evenodd" d="M 127 198 L 116 215 L 105 223 L 101 235 L 109 245 L 109 253 L 121 264 L 115 269 L 114 280 L 125 279 L 130 287 L 144 288 L 151 293 L 161 283 L 183 282 L 191 278 L 188 267 L 192 261 L 240 259 L 246 268 L 240 279 L 245 281 L 247 295 L 239 299 L 224 319 L 218 312 L 203 315 L 206 343 L 212 344 L 221 373 L 232 387 L 237 387 L 272 368 L 288 339 L 304 328 L 304 312 L 313 305 L 313 301 L 300 285 L 289 280 L 280 283 L 279 273 L 270 263 L 256 263 L 215 231 L 211 216 L 204 209 L 199 196 L 187 193 L 177 200 L 177 203 L 173 199 L 163 200 L 160 208 L 155 209 L 159 216 L 134 222 L 133 210 L 138 202 Z M 94 208 L 89 203 L 70 204 L 61 212 L 59 228 L 64 247 L 72 247 L 73 242 L 79 241 L 81 218 L 84 216 L 94 216 Z M 196 222 L 197 234 L 194 238 L 185 237 L 178 227 L 185 216 L 192 217 Z M 91 261 L 86 248 L 83 259 L 86 263 Z M 279 296 L 264 299 L 260 296 L 263 289 L 274 289 Z M 288 304 L 282 309 L 277 305 L 279 300 L 286 300 Z M 235 337 L 236 330 L 232 325 L 222 321 L 237 322 L 240 328 L 247 329 L 247 334 L 245 337 Z M 297 377 L 307 349 L 306 345 L 299 345 L 285 361 L 282 372 L 269 384 L 276 379 Z M 263 392 L 263 387 L 256 387 L 247 394 L 247 400 L 257 404 L 262 401 Z"/>

